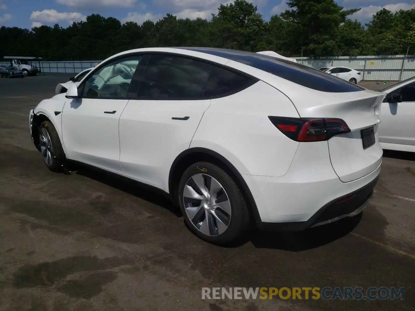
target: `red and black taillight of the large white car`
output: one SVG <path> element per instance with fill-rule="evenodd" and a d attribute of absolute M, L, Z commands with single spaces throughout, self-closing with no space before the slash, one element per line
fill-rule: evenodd
<path fill-rule="evenodd" d="M 349 133 L 346 122 L 336 118 L 287 118 L 268 117 L 288 138 L 295 141 L 326 141 L 334 135 Z"/>

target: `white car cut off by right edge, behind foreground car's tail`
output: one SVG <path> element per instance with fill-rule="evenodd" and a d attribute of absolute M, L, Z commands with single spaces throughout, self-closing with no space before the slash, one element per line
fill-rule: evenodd
<path fill-rule="evenodd" d="M 379 126 L 383 149 L 415 152 L 415 77 L 385 87 Z"/>

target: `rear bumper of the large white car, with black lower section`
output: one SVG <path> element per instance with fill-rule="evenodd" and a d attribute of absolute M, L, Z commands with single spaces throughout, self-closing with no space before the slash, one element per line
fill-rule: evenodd
<path fill-rule="evenodd" d="M 269 226 L 261 223 L 272 223 L 276 227 L 291 226 L 302 230 L 351 214 L 361 207 L 364 204 L 361 200 L 369 197 L 380 171 L 381 163 L 366 176 L 342 182 L 331 165 L 326 141 L 300 143 L 291 167 L 284 176 L 242 176 L 256 204 L 258 216 L 255 221 L 259 226 Z M 353 200 L 331 207 L 339 203 L 339 199 L 352 194 L 356 194 Z M 323 214 L 326 209 L 327 212 Z M 335 212 L 337 209 L 340 212 Z"/>

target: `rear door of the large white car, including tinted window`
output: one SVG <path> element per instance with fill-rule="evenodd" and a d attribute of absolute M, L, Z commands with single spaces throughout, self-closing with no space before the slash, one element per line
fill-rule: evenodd
<path fill-rule="evenodd" d="M 120 118 L 120 163 L 125 175 L 168 191 L 171 164 L 189 148 L 210 106 L 204 88 L 212 65 L 171 54 L 153 54 L 134 76 Z"/>

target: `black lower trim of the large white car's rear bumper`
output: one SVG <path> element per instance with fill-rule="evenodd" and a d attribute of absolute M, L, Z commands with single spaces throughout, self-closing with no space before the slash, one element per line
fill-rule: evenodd
<path fill-rule="evenodd" d="M 307 221 L 286 223 L 257 222 L 256 225 L 260 230 L 264 231 L 302 231 L 307 228 L 330 224 L 346 217 L 356 216 L 370 203 L 378 180 L 379 176 L 361 189 L 327 203 Z"/>

